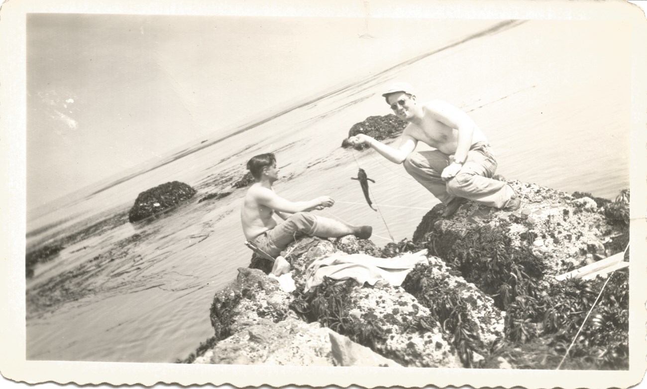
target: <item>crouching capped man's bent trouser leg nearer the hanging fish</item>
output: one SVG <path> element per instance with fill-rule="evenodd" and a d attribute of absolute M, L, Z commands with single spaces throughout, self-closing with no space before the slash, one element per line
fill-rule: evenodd
<path fill-rule="evenodd" d="M 406 157 L 404 170 L 446 205 L 454 198 L 447 192 L 446 182 L 441 178 L 449 163 L 449 156 L 439 150 L 420 151 Z"/>

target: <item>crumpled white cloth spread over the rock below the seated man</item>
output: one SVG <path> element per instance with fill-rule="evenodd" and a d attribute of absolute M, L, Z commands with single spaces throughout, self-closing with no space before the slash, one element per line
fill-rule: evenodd
<path fill-rule="evenodd" d="M 427 250 L 402 254 L 394 258 L 375 258 L 367 254 L 336 252 L 315 260 L 306 271 L 304 291 L 320 285 L 324 277 L 334 280 L 353 278 L 360 285 L 399 286 L 417 263 L 427 260 Z"/>

